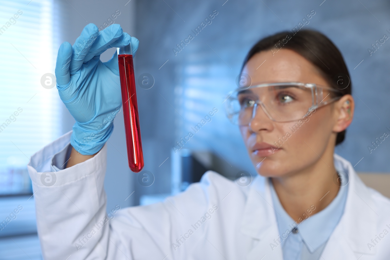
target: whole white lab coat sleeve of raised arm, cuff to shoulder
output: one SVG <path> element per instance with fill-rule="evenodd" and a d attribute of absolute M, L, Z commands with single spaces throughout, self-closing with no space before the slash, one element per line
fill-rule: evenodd
<path fill-rule="evenodd" d="M 190 186 L 165 202 L 121 208 L 106 213 L 103 188 L 106 145 L 96 156 L 58 172 L 51 172 L 55 154 L 69 145 L 62 136 L 31 157 L 37 230 L 43 258 L 51 259 L 180 259 L 172 241 L 195 223 L 213 199 L 206 195 L 212 185 Z M 187 243 L 190 247 L 191 244 Z M 186 254 L 181 250 L 181 254 Z"/>

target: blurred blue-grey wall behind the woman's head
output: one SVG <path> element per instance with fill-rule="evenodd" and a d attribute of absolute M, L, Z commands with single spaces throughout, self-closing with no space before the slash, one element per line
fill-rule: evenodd
<path fill-rule="evenodd" d="M 144 150 L 150 156 L 145 168 L 156 176 L 156 183 L 141 192 L 168 190 L 170 164 L 165 162 L 159 167 L 160 163 L 170 156 L 174 143 L 188 133 L 190 126 L 214 106 L 219 112 L 213 121 L 185 148 L 214 152 L 225 160 L 227 172 L 239 169 L 254 173 L 237 127 L 225 119 L 222 96 L 235 87 L 243 58 L 257 40 L 294 28 L 311 10 L 316 14 L 304 28 L 323 32 L 340 49 L 351 73 L 356 100 L 355 119 L 336 152 L 352 165 L 364 157 L 356 165 L 357 171 L 389 172 L 388 138 L 372 154 L 367 146 L 390 127 L 390 42 L 386 41 L 371 57 L 367 48 L 384 34 L 390 36 L 386 32 L 390 30 L 390 4 L 384 0 L 360 2 L 138 0 L 135 36 L 140 47 L 136 75 L 150 73 L 155 79 L 151 89 L 137 88 L 142 138 L 148 143 Z M 212 23 L 175 56 L 172 48 L 213 10 L 218 15 Z M 186 94 L 196 89 L 202 92 L 203 101 Z M 195 108 L 188 109 L 189 103 Z M 234 172 L 227 175 L 231 174 Z"/>

